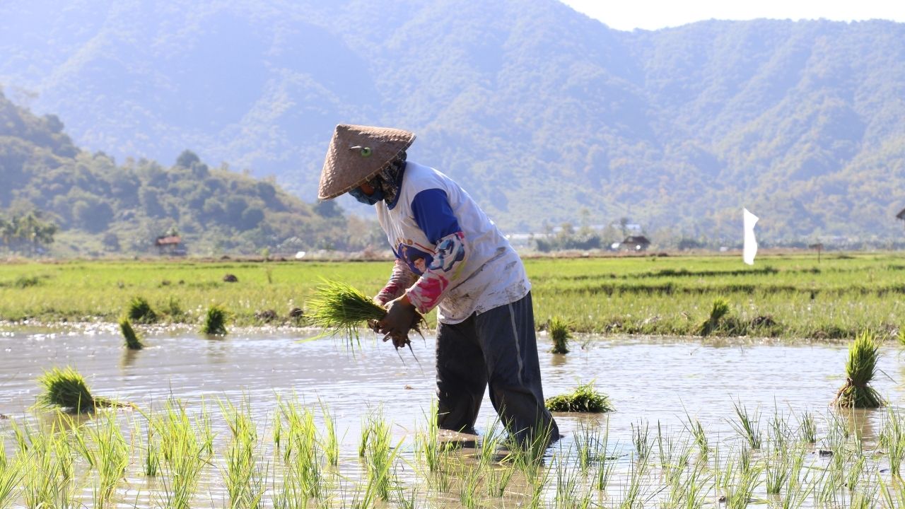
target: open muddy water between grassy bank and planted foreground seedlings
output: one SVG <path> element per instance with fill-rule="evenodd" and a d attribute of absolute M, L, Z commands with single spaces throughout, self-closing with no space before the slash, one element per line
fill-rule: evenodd
<path fill-rule="evenodd" d="M 277 396 L 293 395 L 305 403 L 322 402 L 337 419 L 341 465 L 348 478 L 360 478 L 357 442 L 362 419 L 375 408 L 394 423 L 394 443 L 412 455 L 414 431 L 424 427 L 424 413 L 433 396 L 433 338 L 413 342 L 419 364 L 408 351 L 363 337 L 360 348 L 348 351 L 337 341 L 304 341 L 294 331 L 234 331 L 223 339 L 193 333 L 148 332 L 143 351 L 126 351 L 119 335 L 104 328 L 70 331 L 0 330 L 0 414 L 15 420 L 34 419 L 38 394 L 35 379 L 54 366 L 71 365 L 86 376 L 95 395 L 123 399 L 139 408 L 159 408 L 169 398 L 183 399 L 189 408 L 204 400 L 216 415 L 217 399 L 247 399 L 261 427 L 269 427 Z M 544 348 L 545 338 L 540 337 Z M 778 344 L 745 340 L 706 341 L 662 338 L 583 338 L 566 356 L 540 352 L 547 396 L 595 380 L 616 411 L 601 416 L 558 414 L 568 447 L 579 427 L 605 427 L 611 444 L 631 447 L 632 427 L 645 421 L 665 430 L 681 431 L 686 416 L 700 420 L 711 441 L 740 444 L 730 425 L 734 403 L 759 411 L 766 435 L 767 418 L 813 412 L 818 436 L 825 433 L 828 403 L 844 381 L 845 344 Z M 897 383 L 905 362 L 897 349 L 883 349 L 881 374 L 874 387 L 899 405 L 903 389 Z M 479 429 L 495 417 L 485 398 Z M 862 436 L 871 441 L 881 428 L 881 411 L 846 413 Z M 9 437 L 12 419 L 0 419 L 0 433 Z M 214 431 L 228 431 L 214 418 Z M 8 447 L 9 449 L 9 447 Z M 344 461 L 345 460 L 345 461 Z M 138 467 L 135 467 L 138 470 Z M 140 490 L 138 472 L 129 475 Z M 215 473 L 211 475 L 215 477 Z M 150 487 L 148 487 L 150 486 Z M 220 500 L 215 478 L 201 493 Z M 153 491 L 153 485 L 145 485 Z M 149 495 L 130 495 L 138 505 Z"/>

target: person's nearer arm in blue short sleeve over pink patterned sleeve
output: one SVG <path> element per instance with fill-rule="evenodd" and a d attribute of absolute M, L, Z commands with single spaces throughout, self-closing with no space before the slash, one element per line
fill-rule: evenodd
<path fill-rule="evenodd" d="M 430 312 L 462 279 L 469 245 L 443 189 L 425 189 L 412 200 L 414 221 L 436 248 L 433 261 L 405 291 L 422 314 Z"/>

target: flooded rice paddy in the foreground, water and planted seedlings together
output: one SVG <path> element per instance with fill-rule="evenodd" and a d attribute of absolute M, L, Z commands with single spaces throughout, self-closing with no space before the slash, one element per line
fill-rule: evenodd
<path fill-rule="evenodd" d="M 0 507 L 905 504 L 905 413 L 828 405 L 844 345 L 592 339 L 543 352 L 548 395 L 594 378 L 614 409 L 556 413 L 564 437 L 522 451 L 486 400 L 480 437 L 460 447 L 436 426 L 431 370 L 376 338 L 355 357 L 304 339 L 156 331 L 130 351 L 115 329 L 4 332 L 16 358 L 0 360 Z M 878 366 L 896 378 L 897 348 Z M 60 360 L 135 408 L 33 408 L 33 371 Z M 891 379 L 876 385 L 905 398 Z"/>

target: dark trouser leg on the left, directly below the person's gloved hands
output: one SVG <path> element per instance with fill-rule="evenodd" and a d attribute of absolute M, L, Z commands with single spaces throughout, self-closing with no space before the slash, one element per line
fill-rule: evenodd
<path fill-rule="evenodd" d="M 474 331 L 474 318 L 437 327 L 437 424 L 474 433 L 487 368 Z"/>

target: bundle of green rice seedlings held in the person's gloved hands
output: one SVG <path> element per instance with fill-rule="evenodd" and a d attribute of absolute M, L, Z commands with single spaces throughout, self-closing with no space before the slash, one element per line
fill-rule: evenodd
<path fill-rule="evenodd" d="M 338 281 L 325 281 L 315 289 L 310 304 L 309 322 L 324 329 L 323 336 L 334 335 L 358 341 L 358 328 L 368 321 L 377 321 L 386 315 L 386 309 L 375 303 L 366 294 L 356 288 Z M 412 329 L 421 333 L 418 326 L 424 321 L 421 314 L 415 312 Z M 411 341 L 405 338 L 405 344 L 411 348 Z"/>

